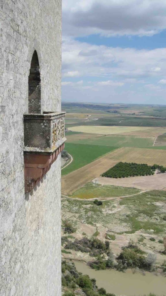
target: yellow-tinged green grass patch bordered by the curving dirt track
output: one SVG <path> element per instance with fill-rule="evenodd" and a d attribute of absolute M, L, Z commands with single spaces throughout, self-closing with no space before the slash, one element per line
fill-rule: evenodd
<path fill-rule="evenodd" d="M 139 189 L 87 183 L 70 196 L 73 198 L 89 199 L 98 197 L 121 197 L 139 193 Z"/>

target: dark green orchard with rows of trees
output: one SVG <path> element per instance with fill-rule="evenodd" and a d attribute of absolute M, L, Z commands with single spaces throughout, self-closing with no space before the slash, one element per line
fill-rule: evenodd
<path fill-rule="evenodd" d="M 165 173 L 166 168 L 162 165 L 147 165 L 145 163 L 117 163 L 113 168 L 110 168 L 102 177 L 108 178 L 125 178 L 125 177 L 134 177 L 134 176 L 148 176 L 154 175 L 155 170 L 160 170 L 161 173 Z"/>

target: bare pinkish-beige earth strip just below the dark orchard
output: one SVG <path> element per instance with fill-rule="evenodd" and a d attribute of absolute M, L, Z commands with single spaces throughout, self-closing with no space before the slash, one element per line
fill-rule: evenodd
<path fill-rule="evenodd" d="M 121 179 L 97 177 L 93 180 L 93 182 L 103 185 L 134 187 L 141 190 L 155 190 L 163 189 L 166 187 L 166 173 L 158 173 L 152 176 L 128 177 Z"/>

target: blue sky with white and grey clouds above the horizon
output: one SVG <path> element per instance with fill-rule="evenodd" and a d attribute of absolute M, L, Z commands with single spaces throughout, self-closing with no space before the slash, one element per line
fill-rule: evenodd
<path fill-rule="evenodd" d="M 166 0 L 62 0 L 62 101 L 166 104 Z"/>

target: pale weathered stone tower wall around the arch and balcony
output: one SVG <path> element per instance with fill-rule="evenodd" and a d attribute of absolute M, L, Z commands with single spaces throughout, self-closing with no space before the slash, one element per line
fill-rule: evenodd
<path fill-rule="evenodd" d="M 0 295 L 61 295 L 60 156 L 24 194 L 23 114 L 37 51 L 42 111 L 61 110 L 61 0 L 0 0 Z"/>

